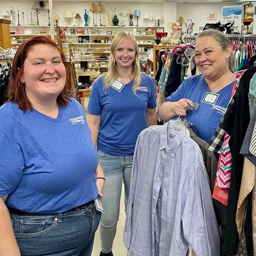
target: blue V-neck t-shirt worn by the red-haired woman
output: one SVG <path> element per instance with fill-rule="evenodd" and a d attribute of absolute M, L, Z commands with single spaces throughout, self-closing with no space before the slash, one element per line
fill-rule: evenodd
<path fill-rule="evenodd" d="M 97 152 L 80 103 L 56 119 L 16 103 L 0 107 L 0 196 L 7 207 L 62 213 L 95 199 Z"/>

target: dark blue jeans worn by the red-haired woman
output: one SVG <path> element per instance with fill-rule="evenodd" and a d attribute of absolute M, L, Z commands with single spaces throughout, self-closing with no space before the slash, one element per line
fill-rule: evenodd
<path fill-rule="evenodd" d="M 101 213 L 92 203 L 68 213 L 10 216 L 22 256 L 90 256 Z"/>

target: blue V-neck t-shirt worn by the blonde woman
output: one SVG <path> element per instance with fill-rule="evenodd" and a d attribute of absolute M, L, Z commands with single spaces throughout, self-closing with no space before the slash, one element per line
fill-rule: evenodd
<path fill-rule="evenodd" d="M 88 113 L 100 115 L 98 150 L 116 156 L 133 155 L 138 134 L 147 128 L 146 109 L 156 107 L 154 79 L 144 73 L 141 84 L 132 91 L 133 81 L 121 91 L 104 89 L 103 78 L 97 79 L 91 89 Z"/>

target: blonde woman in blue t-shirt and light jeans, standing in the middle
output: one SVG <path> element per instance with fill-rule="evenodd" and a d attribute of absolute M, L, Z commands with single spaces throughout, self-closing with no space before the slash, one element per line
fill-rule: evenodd
<path fill-rule="evenodd" d="M 157 124 L 154 79 L 140 72 L 138 45 L 128 32 L 111 44 L 108 72 L 93 84 L 88 104 L 88 125 L 97 145 L 106 183 L 100 222 L 100 256 L 113 256 L 122 183 L 128 203 L 131 166 L 138 134 Z"/>

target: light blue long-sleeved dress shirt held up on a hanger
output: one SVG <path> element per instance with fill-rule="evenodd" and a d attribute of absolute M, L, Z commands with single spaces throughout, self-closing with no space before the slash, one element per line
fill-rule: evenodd
<path fill-rule="evenodd" d="M 199 146 L 169 121 L 140 132 L 124 243 L 128 256 L 220 256 L 213 201 Z"/>

